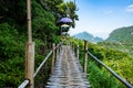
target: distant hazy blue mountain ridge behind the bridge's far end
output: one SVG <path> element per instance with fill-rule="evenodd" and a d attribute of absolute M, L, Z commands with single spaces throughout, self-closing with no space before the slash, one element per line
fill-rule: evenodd
<path fill-rule="evenodd" d="M 88 32 L 82 32 L 82 33 L 75 34 L 75 35 L 73 35 L 73 37 L 80 38 L 80 40 L 85 40 L 85 41 L 93 42 L 93 43 L 103 41 L 102 37 L 98 37 L 98 36 L 94 37 L 92 34 L 89 34 Z"/>

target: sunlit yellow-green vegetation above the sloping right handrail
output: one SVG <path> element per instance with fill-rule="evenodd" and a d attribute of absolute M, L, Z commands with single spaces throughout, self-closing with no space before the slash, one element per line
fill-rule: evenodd
<path fill-rule="evenodd" d="M 94 46 L 93 46 L 94 47 Z M 133 58 L 121 51 L 115 51 L 112 48 L 104 48 L 103 46 L 95 45 L 95 51 L 98 51 L 96 57 L 102 59 L 109 67 L 115 70 L 120 76 L 125 78 L 127 81 L 133 84 Z M 91 50 L 90 50 L 91 52 Z"/>

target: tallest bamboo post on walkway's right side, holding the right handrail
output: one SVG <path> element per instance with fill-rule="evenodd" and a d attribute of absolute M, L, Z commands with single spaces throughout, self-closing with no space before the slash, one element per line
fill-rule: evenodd
<path fill-rule="evenodd" d="M 88 42 L 84 41 L 84 70 L 83 73 L 86 74 L 86 66 L 88 66 Z"/>

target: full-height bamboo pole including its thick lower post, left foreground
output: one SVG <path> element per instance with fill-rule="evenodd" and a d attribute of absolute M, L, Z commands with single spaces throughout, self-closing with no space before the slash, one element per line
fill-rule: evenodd
<path fill-rule="evenodd" d="M 27 0 L 27 19 L 28 19 L 28 43 L 25 45 L 25 79 L 30 80 L 28 88 L 34 88 L 34 43 L 32 42 L 31 29 L 31 0 Z"/>

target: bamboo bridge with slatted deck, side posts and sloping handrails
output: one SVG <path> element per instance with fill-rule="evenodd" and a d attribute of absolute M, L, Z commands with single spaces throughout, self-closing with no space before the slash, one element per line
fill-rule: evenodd
<path fill-rule="evenodd" d="M 86 73 L 88 66 L 88 55 L 90 55 L 95 62 L 98 62 L 101 66 L 103 66 L 106 70 L 109 70 L 116 79 L 119 79 L 125 87 L 133 88 L 131 84 L 129 84 L 124 78 L 120 77 L 116 73 L 114 73 L 111 68 L 109 68 L 104 63 L 98 59 L 93 54 L 88 51 L 88 42 L 84 41 L 84 65 L 81 66 L 79 62 L 79 46 L 76 47 L 76 52 L 74 53 L 73 45 L 62 45 L 55 44 L 52 45 L 52 50 L 47 55 L 44 61 L 40 64 L 40 66 L 34 72 L 33 76 L 25 78 L 25 80 L 18 88 L 34 88 L 34 84 L 32 79 L 38 75 L 45 62 L 52 55 L 52 66 L 51 66 L 51 75 L 47 82 L 47 86 L 41 86 L 39 88 L 91 88 L 91 84 L 89 82 L 89 77 Z M 27 73 L 25 73 L 27 74 Z M 25 76 L 27 77 L 27 76 Z M 31 81 L 32 80 L 32 81 Z"/>

